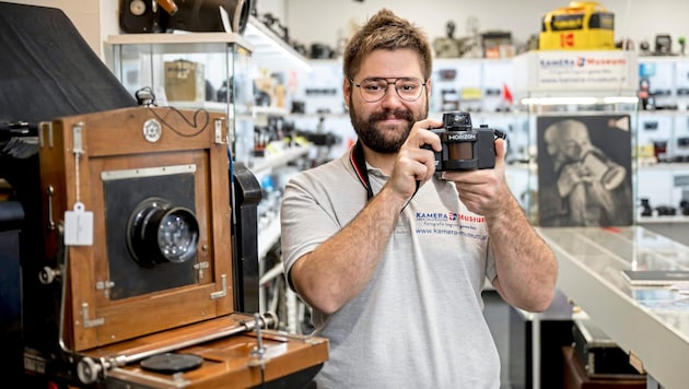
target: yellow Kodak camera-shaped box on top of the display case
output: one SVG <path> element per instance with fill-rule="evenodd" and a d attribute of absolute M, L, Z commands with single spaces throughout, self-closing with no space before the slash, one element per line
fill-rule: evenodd
<path fill-rule="evenodd" d="M 541 21 L 540 50 L 612 50 L 615 14 L 595 1 L 572 1 Z"/>

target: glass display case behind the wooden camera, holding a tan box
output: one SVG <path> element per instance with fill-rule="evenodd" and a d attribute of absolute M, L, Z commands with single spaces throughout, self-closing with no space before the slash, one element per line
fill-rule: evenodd
<path fill-rule="evenodd" d="M 107 37 L 106 62 L 137 98 L 227 116 L 227 144 L 248 165 L 253 151 L 252 44 L 238 34 L 126 34 Z"/>

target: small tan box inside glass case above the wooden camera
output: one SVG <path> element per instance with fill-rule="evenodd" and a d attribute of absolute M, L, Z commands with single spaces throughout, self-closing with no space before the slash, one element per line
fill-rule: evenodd
<path fill-rule="evenodd" d="M 171 102 L 205 101 L 203 63 L 184 59 L 165 61 L 165 95 Z"/>

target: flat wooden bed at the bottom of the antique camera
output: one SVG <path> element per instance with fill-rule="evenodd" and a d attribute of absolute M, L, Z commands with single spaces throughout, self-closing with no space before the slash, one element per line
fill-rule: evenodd
<path fill-rule="evenodd" d="M 226 331 L 241 330 L 241 323 L 250 321 L 245 315 L 229 315 L 206 322 L 172 329 L 165 332 L 129 340 L 84 352 L 93 359 L 110 359 L 114 355 L 129 358 L 132 355 L 155 355 L 156 350 L 170 350 L 175 344 L 202 340 Z M 246 388 L 258 386 L 261 380 L 280 377 L 318 366 L 328 359 L 328 341 L 324 338 L 293 335 L 284 332 L 261 330 L 265 347 L 264 372 L 253 354 L 258 341 L 255 331 L 241 331 L 234 335 L 174 350 L 174 353 L 192 354 L 202 358 L 199 368 L 170 374 L 153 373 L 131 361 L 125 366 L 107 372 L 108 381 L 135 384 L 145 388 Z M 188 343 L 191 344 L 191 343 Z M 143 358 L 144 359 L 144 358 Z"/>

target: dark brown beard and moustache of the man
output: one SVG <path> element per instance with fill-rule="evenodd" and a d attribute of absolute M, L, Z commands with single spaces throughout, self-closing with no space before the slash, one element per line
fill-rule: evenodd
<path fill-rule="evenodd" d="M 354 105 L 352 104 L 353 102 L 351 96 L 349 103 L 349 106 L 352 107 L 349 110 L 349 117 L 351 119 L 352 126 L 354 127 L 354 131 L 359 137 L 359 140 L 371 150 L 382 154 L 397 153 L 407 140 L 407 137 L 409 137 L 409 132 L 411 132 L 413 123 L 419 120 L 425 119 L 429 110 L 429 105 L 427 102 L 423 109 L 416 117 L 411 111 L 404 108 L 395 110 L 385 109 L 383 111 L 373 113 L 369 117 L 362 117 L 353 108 Z M 406 120 L 407 125 L 405 127 L 376 127 L 381 126 L 379 122 L 389 118 L 390 116 L 396 119 Z"/>

